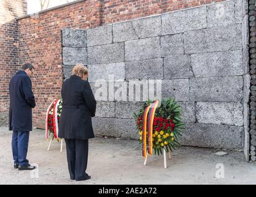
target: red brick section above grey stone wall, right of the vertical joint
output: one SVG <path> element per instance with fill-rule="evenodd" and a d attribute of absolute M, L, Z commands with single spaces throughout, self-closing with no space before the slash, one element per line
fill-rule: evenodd
<path fill-rule="evenodd" d="M 103 23 L 114 23 L 148 15 L 202 6 L 224 0 L 107 0 L 104 1 Z"/>

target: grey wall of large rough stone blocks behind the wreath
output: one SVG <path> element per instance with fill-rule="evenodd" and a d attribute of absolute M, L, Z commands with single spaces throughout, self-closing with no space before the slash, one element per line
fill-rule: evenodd
<path fill-rule="evenodd" d="M 187 123 L 183 145 L 241 150 L 248 131 L 247 35 L 244 0 L 89 30 L 64 29 L 64 75 L 69 78 L 75 63 L 87 64 L 94 92 L 100 88 L 96 81 L 109 81 L 109 74 L 114 76 L 113 89 L 131 79 L 161 79 L 162 98 L 171 96 L 181 103 Z M 132 112 L 141 102 L 106 94 L 108 99 L 96 97 L 95 133 L 137 139 Z"/>

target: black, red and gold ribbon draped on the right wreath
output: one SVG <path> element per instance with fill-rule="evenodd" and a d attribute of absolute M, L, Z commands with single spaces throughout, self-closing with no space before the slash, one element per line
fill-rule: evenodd
<path fill-rule="evenodd" d="M 147 153 L 147 137 L 148 137 L 148 153 L 152 155 L 153 150 L 153 121 L 155 118 L 156 107 L 158 100 L 148 105 L 143 113 L 143 131 L 142 131 L 142 155 L 146 157 Z"/>

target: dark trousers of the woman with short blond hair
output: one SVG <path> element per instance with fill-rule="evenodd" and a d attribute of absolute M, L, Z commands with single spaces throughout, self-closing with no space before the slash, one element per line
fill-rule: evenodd
<path fill-rule="evenodd" d="M 85 173 L 88 161 L 88 139 L 65 139 L 65 142 L 70 179 L 84 180 L 88 176 Z"/>

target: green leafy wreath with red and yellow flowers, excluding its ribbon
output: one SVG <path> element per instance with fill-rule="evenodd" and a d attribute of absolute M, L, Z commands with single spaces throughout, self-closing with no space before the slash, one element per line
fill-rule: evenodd
<path fill-rule="evenodd" d="M 134 113 L 137 130 L 140 134 L 140 143 L 142 143 L 143 113 L 151 103 L 153 103 L 153 100 L 148 100 L 143 103 L 139 113 Z M 185 129 L 185 124 L 181 119 L 181 105 L 174 98 L 163 99 L 158 106 L 153 119 L 152 141 L 155 155 L 156 153 L 163 155 L 163 148 L 166 152 L 169 152 L 181 147 L 178 139 Z"/>

